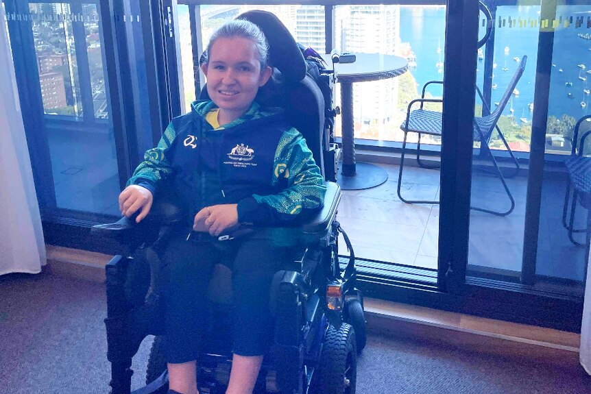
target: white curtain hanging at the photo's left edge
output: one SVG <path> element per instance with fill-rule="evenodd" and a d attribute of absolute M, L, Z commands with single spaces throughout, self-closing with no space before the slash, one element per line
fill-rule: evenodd
<path fill-rule="evenodd" d="M 0 23 L 0 275 L 39 273 L 45 243 L 2 7 Z"/>

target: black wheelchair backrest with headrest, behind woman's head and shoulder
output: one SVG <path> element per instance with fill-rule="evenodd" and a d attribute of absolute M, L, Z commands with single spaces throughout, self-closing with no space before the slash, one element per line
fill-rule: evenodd
<path fill-rule="evenodd" d="M 237 19 L 258 25 L 269 41 L 269 65 L 274 68 L 273 77 L 259 89 L 256 102 L 263 107 L 285 110 L 289 123 L 306 138 L 306 144 L 326 179 L 326 171 L 330 169 L 324 167 L 324 151 L 328 150 L 329 140 L 324 128 L 324 97 L 314 79 L 306 75 L 306 61 L 300 47 L 287 27 L 271 12 L 252 10 Z M 204 86 L 200 99 L 208 98 Z"/>

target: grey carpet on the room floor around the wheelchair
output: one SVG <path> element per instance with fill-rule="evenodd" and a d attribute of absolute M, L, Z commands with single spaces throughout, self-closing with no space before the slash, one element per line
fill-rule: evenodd
<path fill-rule="evenodd" d="M 104 285 L 49 273 L 0 276 L 0 393 L 108 393 Z M 134 358 L 141 386 L 150 338 Z M 453 345 L 370 336 L 360 394 L 586 394 L 581 367 L 504 358 Z"/>

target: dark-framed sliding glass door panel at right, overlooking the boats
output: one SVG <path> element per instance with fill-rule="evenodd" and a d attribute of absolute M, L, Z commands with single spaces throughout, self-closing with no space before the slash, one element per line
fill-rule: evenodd
<path fill-rule="evenodd" d="M 458 8 L 474 16 L 469 3 L 458 1 Z M 439 268 L 448 268 L 452 293 L 490 297 L 486 302 L 499 315 L 576 326 L 588 260 L 587 211 L 566 195 L 565 159 L 577 142 L 577 119 L 588 114 L 587 8 L 483 3 L 490 25 L 482 14 L 471 27 L 448 19 L 446 49 L 458 55 L 446 58 L 446 69 L 463 73 L 461 86 L 448 78 L 444 86 L 444 100 L 457 105 L 444 105 L 444 134 L 457 134 L 443 138 L 441 231 L 456 234 L 440 237 Z M 487 26 L 491 34 L 478 47 L 477 35 Z M 590 129 L 583 121 L 579 138 Z M 571 206 L 572 225 L 583 229 L 574 239 L 567 228 Z"/>

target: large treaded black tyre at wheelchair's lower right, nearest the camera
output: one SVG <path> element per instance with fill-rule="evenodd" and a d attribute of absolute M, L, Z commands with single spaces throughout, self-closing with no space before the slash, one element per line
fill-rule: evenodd
<path fill-rule="evenodd" d="M 310 394 L 355 394 L 356 346 L 355 331 L 351 325 L 342 323 L 338 329 L 328 326 Z"/>

